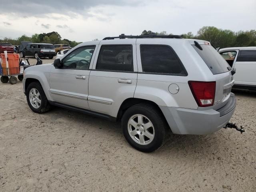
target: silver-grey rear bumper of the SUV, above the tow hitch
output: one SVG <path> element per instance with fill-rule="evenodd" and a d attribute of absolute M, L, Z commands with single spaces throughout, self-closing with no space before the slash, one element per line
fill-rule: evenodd
<path fill-rule="evenodd" d="M 236 99 L 231 93 L 228 103 L 218 110 L 193 110 L 160 106 L 174 134 L 211 134 L 223 128 L 232 117 Z"/>

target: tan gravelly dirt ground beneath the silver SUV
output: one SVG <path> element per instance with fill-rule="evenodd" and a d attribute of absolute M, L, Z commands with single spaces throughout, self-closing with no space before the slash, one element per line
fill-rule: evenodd
<path fill-rule="evenodd" d="M 244 134 L 172 135 L 142 153 L 120 123 L 62 108 L 36 114 L 22 82 L 0 83 L 0 191 L 256 192 L 256 93 L 235 94 L 231 122 Z"/>

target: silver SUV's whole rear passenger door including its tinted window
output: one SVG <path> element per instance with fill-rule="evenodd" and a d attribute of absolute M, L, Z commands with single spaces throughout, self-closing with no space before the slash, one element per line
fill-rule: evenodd
<path fill-rule="evenodd" d="M 90 110 L 116 117 L 137 83 L 136 39 L 102 40 L 89 78 Z"/>

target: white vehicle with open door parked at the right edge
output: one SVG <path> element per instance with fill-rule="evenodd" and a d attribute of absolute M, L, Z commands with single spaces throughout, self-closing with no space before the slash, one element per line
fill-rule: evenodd
<path fill-rule="evenodd" d="M 219 53 L 232 69 L 236 68 L 233 88 L 256 90 L 256 47 L 223 48 Z"/>

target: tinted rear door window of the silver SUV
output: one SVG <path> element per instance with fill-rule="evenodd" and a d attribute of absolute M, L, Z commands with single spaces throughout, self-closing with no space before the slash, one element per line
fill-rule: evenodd
<path fill-rule="evenodd" d="M 132 46 L 101 46 L 96 69 L 112 71 L 133 71 Z"/>

